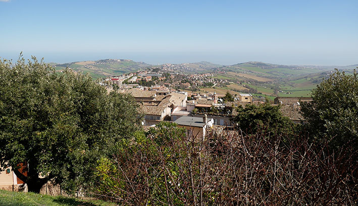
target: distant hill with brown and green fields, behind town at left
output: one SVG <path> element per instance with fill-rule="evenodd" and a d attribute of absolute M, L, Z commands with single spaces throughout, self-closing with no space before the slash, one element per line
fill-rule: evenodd
<path fill-rule="evenodd" d="M 55 69 L 61 71 L 69 67 L 74 71 L 82 71 L 85 74 L 89 73 L 93 78 L 101 78 L 134 72 L 149 66 L 150 64 L 129 59 L 102 59 L 56 64 Z"/>

